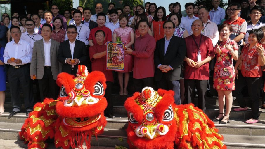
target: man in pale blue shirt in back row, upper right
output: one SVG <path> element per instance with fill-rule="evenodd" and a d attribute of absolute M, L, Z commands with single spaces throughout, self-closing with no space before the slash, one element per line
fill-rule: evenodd
<path fill-rule="evenodd" d="M 219 7 L 220 0 L 212 0 L 214 8 L 210 11 L 210 18 L 212 22 L 220 25 L 221 20 L 224 19 L 226 12 L 223 8 Z"/>

